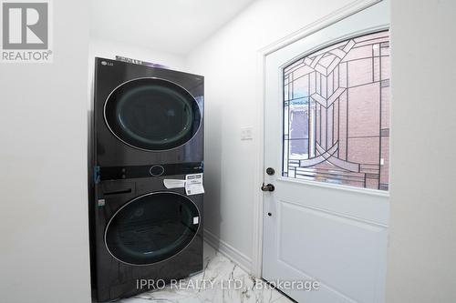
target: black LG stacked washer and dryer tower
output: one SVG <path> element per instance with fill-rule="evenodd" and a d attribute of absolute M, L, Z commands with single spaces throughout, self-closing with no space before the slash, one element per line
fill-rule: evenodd
<path fill-rule="evenodd" d="M 202 173 L 203 77 L 96 58 L 90 148 L 94 299 L 202 270 L 202 195 L 163 180 Z"/>

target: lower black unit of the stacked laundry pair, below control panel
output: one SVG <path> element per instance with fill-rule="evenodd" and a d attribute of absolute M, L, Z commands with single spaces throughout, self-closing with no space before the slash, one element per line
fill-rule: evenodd
<path fill-rule="evenodd" d="M 96 199 L 90 212 L 92 274 L 96 273 L 92 288 L 98 302 L 146 291 L 137 288 L 141 278 L 169 282 L 202 271 L 203 195 L 185 196 L 183 188 L 167 189 L 164 178 L 109 180 L 95 185 Z M 185 175 L 172 178 L 184 179 Z M 144 225 L 143 219 L 155 223 Z M 154 238 L 155 247 L 151 247 L 147 238 L 158 237 L 161 231 L 166 237 Z M 128 241 L 129 233 L 135 233 L 131 238 L 136 242 Z M 148 252 L 153 256 L 149 258 Z"/>

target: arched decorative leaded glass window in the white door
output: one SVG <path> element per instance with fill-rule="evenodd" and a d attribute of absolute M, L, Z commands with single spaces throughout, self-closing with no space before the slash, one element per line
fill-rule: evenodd
<path fill-rule="evenodd" d="M 283 165 L 284 177 L 388 190 L 388 31 L 285 67 Z"/>

